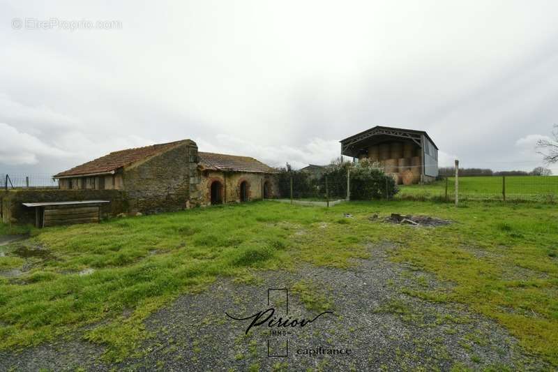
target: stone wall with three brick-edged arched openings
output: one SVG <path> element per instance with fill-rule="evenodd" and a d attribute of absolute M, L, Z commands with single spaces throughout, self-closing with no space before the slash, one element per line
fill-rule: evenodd
<path fill-rule="evenodd" d="M 248 182 L 248 200 L 262 199 L 262 186 L 269 182 L 271 198 L 278 196 L 277 180 L 273 174 L 248 172 L 219 172 L 205 170 L 199 173 L 199 191 L 202 195 L 202 205 L 211 204 L 211 184 L 219 181 L 223 184 L 223 202 L 240 202 L 240 184 Z"/>

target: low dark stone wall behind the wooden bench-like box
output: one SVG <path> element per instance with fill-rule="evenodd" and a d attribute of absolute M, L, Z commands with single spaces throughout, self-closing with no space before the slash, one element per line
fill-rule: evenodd
<path fill-rule="evenodd" d="M 0 192 L 2 221 L 8 223 L 35 223 L 35 208 L 25 207 L 24 202 L 75 202 L 81 200 L 110 200 L 101 207 L 102 217 L 126 213 L 128 202 L 123 192 L 117 190 L 58 190 L 32 189 Z"/>

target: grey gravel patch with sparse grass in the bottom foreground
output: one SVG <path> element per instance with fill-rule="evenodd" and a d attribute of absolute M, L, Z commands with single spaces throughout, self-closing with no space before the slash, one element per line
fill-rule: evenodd
<path fill-rule="evenodd" d="M 20 354 L 0 352 L 0 370 L 108 371 L 245 371 L 281 370 L 416 370 L 453 366 L 470 369 L 541 369 L 515 338 L 492 320 L 467 311 L 464 306 L 432 304 L 400 293 L 400 288 L 449 290 L 430 276 L 387 260 L 384 244 L 371 248 L 372 258 L 353 269 L 304 266 L 290 271 L 257 274 L 258 283 L 239 284 L 220 279 L 199 295 L 183 295 L 173 304 L 151 315 L 146 328 L 153 338 L 144 341 L 140 357 L 116 365 L 102 362 L 103 348 L 80 341 L 58 341 L 24 350 Z M 267 306 L 269 288 L 290 289 L 288 317 L 311 319 L 331 304 L 324 314 L 305 327 L 285 328 L 290 334 L 269 334 L 265 325 L 252 327 L 248 317 Z M 298 288 L 298 293 L 295 289 Z M 277 293 L 277 292 L 273 292 Z M 302 293 L 302 295 L 300 294 Z M 280 295 L 281 296 L 281 295 Z M 283 297 L 271 298 L 276 315 L 285 317 Z M 327 307 L 327 306 L 325 306 Z M 322 309 L 323 310 L 323 309 Z M 285 313 L 282 313 L 285 311 Z M 288 357 L 268 357 L 285 352 Z M 309 355 L 308 350 L 314 351 Z M 351 350 L 328 355 L 319 350 Z"/>

